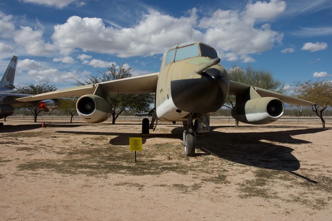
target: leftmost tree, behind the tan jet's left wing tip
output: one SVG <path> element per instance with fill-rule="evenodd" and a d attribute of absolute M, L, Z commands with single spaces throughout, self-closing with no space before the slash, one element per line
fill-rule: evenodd
<path fill-rule="evenodd" d="M 37 84 L 37 85 L 30 84 L 25 87 L 18 87 L 18 88 L 16 88 L 16 93 L 37 95 L 37 94 L 42 94 L 42 93 L 51 92 L 51 91 L 55 91 L 55 90 L 57 90 L 57 88 L 54 85 L 48 85 L 47 83 L 43 83 L 43 84 Z M 36 123 L 37 116 L 41 112 L 37 107 L 37 103 L 32 103 L 31 105 L 28 105 L 27 108 L 32 112 L 33 121 L 34 121 L 34 123 Z"/>

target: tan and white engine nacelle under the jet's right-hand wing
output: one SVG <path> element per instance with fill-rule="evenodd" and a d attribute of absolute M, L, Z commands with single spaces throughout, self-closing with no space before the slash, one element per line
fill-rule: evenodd
<path fill-rule="evenodd" d="M 269 124 L 278 120 L 285 111 L 284 103 L 275 97 L 260 97 L 237 104 L 232 117 L 247 124 Z"/>

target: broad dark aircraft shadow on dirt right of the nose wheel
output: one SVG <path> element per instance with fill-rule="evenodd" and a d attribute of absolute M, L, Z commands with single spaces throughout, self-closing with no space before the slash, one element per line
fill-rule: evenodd
<path fill-rule="evenodd" d="M 215 128 L 212 127 L 213 129 Z M 211 131 L 204 137 L 197 138 L 197 146 L 206 154 L 243 165 L 294 172 L 300 168 L 300 161 L 292 155 L 294 149 L 284 146 L 282 143 L 310 143 L 292 136 L 322 130 L 324 129 L 308 128 L 244 133 Z"/>

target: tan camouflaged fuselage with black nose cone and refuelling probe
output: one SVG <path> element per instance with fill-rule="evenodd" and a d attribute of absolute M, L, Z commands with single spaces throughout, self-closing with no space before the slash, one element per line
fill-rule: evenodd
<path fill-rule="evenodd" d="M 181 48 L 197 47 L 193 57 L 176 60 Z M 204 48 L 203 48 L 204 47 Z M 203 50 L 212 52 L 206 53 Z M 175 51 L 174 51 L 175 50 Z M 192 52 L 192 51 L 191 51 Z M 174 60 L 169 58 L 174 54 Z M 189 113 L 211 113 L 218 111 L 224 104 L 229 91 L 229 78 L 226 70 L 216 64 L 197 73 L 197 68 L 204 66 L 217 57 L 212 47 L 202 43 L 187 43 L 171 48 L 161 64 L 156 91 L 156 113 L 161 120 L 185 120 Z"/>

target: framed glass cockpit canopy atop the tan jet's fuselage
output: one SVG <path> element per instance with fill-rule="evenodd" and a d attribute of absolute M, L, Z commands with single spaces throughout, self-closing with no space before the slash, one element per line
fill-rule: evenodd
<path fill-rule="evenodd" d="M 216 50 L 200 42 L 187 42 L 172 47 L 166 52 L 165 65 L 193 57 L 218 57 Z"/>

